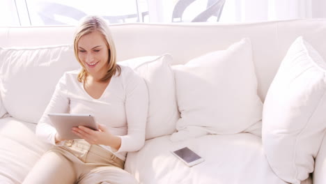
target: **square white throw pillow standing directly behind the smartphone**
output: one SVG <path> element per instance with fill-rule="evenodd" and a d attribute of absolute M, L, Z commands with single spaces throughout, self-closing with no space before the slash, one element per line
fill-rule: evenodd
<path fill-rule="evenodd" d="M 172 141 L 235 134 L 261 123 L 263 105 L 248 38 L 172 68 L 181 113 Z"/>

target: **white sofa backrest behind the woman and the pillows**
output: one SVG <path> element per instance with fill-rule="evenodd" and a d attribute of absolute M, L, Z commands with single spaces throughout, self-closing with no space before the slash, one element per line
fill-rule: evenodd
<path fill-rule="evenodd" d="M 2 27 L 0 47 L 32 47 L 73 43 L 73 26 Z M 258 94 L 265 99 L 268 87 L 288 47 L 298 36 L 326 59 L 326 20 L 288 20 L 251 24 L 114 24 L 118 61 L 137 56 L 171 53 L 173 64 L 247 37 L 251 39 L 258 77 Z"/>

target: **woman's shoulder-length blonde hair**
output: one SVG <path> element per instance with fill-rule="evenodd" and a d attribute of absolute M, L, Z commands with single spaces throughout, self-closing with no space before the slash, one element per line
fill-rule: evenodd
<path fill-rule="evenodd" d="M 99 31 L 107 45 L 109 59 L 107 66 L 107 73 L 100 79 L 101 82 L 107 82 L 111 79 L 112 76 L 116 74 L 118 71 L 118 75 L 121 74 L 121 68 L 116 64 L 116 46 L 114 45 L 114 40 L 112 39 L 111 32 L 109 31 L 109 26 L 107 25 L 106 20 L 104 20 L 100 16 L 86 16 L 81 19 L 79 26 L 77 26 L 77 30 L 75 32 L 75 40 L 74 40 L 74 49 L 75 56 L 77 61 L 81 64 L 82 69 L 78 75 L 78 81 L 84 82 L 88 73 L 85 69 L 84 63 L 79 60 L 78 55 L 78 42 L 81 36 L 84 36 L 89 33 L 93 33 L 93 31 Z"/>

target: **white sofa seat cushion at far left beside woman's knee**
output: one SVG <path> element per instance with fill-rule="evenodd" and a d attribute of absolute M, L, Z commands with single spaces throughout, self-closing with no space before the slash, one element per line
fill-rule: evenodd
<path fill-rule="evenodd" d="M 49 145 L 36 138 L 35 124 L 0 119 L 0 183 L 22 183 Z"/>

